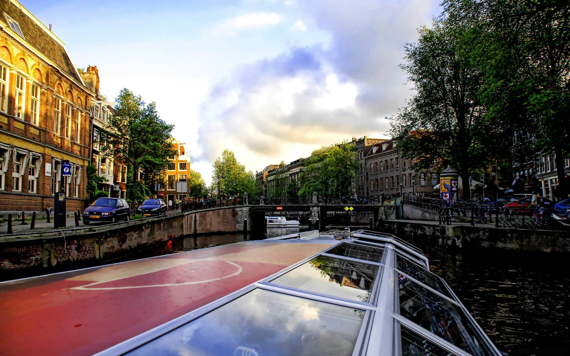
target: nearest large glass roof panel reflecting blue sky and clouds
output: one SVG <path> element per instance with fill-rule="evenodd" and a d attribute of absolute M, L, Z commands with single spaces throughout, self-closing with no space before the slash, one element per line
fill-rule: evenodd
<path fill-rule="evenodd" d="M 128 355 L 352 355 L 364 310 L 255 289 Z"/>

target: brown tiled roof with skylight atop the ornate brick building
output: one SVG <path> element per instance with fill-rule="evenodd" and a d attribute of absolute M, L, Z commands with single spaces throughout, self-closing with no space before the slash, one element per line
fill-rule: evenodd
<path fill-rule="evenodd" d="M 69 55 L 67 54 L 65 44 L 57 38 L 50 30 L 46 28 L 38 19 L 34 17 L 29 11 L 25 9 L 16 1 L 0 0 L 0 9 L 9 17 L 18 22 L 24 38 L 14 34 L 14 38 L 21 40 L 24 44 L 30 44 L 40 54 L 44 55 L 52 63 L 56 64 L 67 75 L 83 83 L 78 75 Z M 0 21 L 2 22 L 5 31 L 13 34 L 10 26 L 6 24 L 6 17 L 0 14 Z M 10 32 L 11 31 L 11 32 Z"/>

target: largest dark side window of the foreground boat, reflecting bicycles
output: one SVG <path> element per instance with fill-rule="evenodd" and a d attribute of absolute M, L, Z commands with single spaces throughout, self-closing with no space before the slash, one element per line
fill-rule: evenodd
<path fill-rule="evenodd" d="M 475 356 L 491 355 L 461 307 L 398 273 L 400 314 Z"/>

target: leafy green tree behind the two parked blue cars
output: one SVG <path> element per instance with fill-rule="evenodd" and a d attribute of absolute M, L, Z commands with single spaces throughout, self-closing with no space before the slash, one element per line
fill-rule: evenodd
<path fill-rule="evenodd" d="M 133 172 L 143 169 L 152 182 L 154 174 L 168 166 L 168 156 L 178 154 L 172 145 L 173 128 L 158 116 L 155 103 L 145 105 L 140 96 L 125 88 L 119 93 L 115 113 L 102 134 L 107 141 L 103 155 L 132 167 Z M 134 200 L 135 190 L 130 191 Z"/>

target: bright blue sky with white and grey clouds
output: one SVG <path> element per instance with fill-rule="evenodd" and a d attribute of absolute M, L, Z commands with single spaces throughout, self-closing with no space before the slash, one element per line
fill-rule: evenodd
<path fill-rule="evenodd" d="M 441 0 L 45 1 L 21 4 L 97 66 L 109 100 L 155 101 L 211 182 L 224 149 L 246 170 L 352 137 L 389 138 L 412 94 L 406 43 Z"/>

